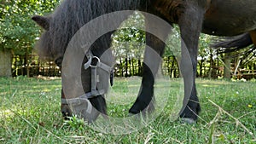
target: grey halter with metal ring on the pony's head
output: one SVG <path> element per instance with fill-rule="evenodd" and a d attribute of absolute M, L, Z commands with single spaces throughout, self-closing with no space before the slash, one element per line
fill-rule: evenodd
<path fill-rule="evenodd" d="M 84 64 L 84 69 L 87 70 L 90 68 L 91 78 L 90 78 L 90 92 L 85 93 L 77 98 L 66 99 L 61 98 L 61 104 L 72 104 L 72 105 L 80 105 L 82 101 L 88 101 L 90 98 L 94 98 L 99 95 L 104 95 L 107 93 L 105 89 L 97 89 L 97 84 L 100 82 L 99 75 L 97 74 L 97 68 L 101 68 L 105 72 L 110 74 L 112 72 L 112 67 L 107 64 L 102 63 L 99 57 L 92 54 L 90 49 L 85 54 L 87 57 L 87 62 Z"/>

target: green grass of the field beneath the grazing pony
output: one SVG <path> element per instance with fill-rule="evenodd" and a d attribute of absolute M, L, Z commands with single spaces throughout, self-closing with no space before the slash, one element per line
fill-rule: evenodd
<path fill-rule="evenodd" d="M 197 79 L 202 107 L 197 124 L 173 121 L 180 82 L 158 83 L 159 116 L 152 123 L 129 135 L 111 135 L 76 117 L 61 118 L 61 79 L 0 78 L 0 143 L 256 143 L 255 81 Z M 107 98 L 109 116 L 127 117 L 138 89 L 137 78 L 115 79 Z"/>

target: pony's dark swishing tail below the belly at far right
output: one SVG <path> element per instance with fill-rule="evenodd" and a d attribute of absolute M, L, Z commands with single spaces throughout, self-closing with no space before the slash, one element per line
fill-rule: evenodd
<path fill-rule="evenodd" d="M 218 49 L 218 53 L 230 53 L 245 49 L 253 44 L 249 33 L 244 33 L 235 37 L 225 37 L 224 40 L 211 45 L 213 49 Z"/>

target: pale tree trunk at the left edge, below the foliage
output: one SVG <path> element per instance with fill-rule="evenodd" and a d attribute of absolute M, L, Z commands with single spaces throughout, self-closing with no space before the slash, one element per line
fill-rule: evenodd
<path fill-rule="evenodd" d="M 0 77 L 12 76 L 12 54 L 9 50 L 0 50 Z"/>

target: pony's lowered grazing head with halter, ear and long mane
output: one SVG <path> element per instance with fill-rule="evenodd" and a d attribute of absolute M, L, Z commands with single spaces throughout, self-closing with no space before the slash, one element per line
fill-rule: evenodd
<path fill-rule="evenodd" d="M 142 3 L 144 1 L 140 0 L 65 0 L 55 9 L 53 14 L 46 17 L 38 15 L 32 17 L 32 20 L 45 30 L 38 42 L 38 54 L 46 60 L 55 60 L 55 63 L 61 66 L 61 112 L 65 117 L 72 116 L 72 114 L 82 114 L 84 119 L 87 118 L 88 121 L 92 121 L 100 112 L 107 113 L 104 94 L 108 90 L 109 67 L 113 65 L 112 53 L 111 50 L 108 50 L 111 44 L 111 35 L 130 14 L 124 14 L 119 19 L 114 16 L 108 20 L 107 17 L 108 22 L 96 22 L 96 25 L 91 25 L 82 32 L 80 29 L 91 23 L 91 20 L 104 14 L 119 10 L 134 10 L 140 8 Z M 113 26 L 113 30 L 103 33 L 89 42 L 90 48 L 88 50 L 80 51 L 83 48 L 79 48 L 83 44 L 86 45 L 92 36 L 97 36 L 96 33 L 102 32 L 102 29 L 108 25 Z M 73 38 L 79 32 L 82 33 L 79 35 L 81 37 Z M 80 39 L 79 43 L 81 44 L 72 46 L 70 43 L 73 39 Z M 67 52 L 70 46 L 71 53 Z M 87 52 L 90 52 L 91 55 L 86 55 Z M 81 58 L 78 55 L 82 55 Z M 79 62 L 81 60 L 82 62 Z M 77 89 L 80 87 L 83 92 Z M 91 111 L 90 107 L 92 107 Z"/>

